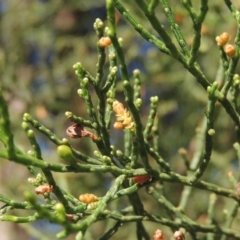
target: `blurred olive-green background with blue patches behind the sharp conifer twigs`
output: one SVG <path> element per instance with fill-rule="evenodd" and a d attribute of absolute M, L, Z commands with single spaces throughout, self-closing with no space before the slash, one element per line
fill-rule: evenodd
<path fill-rule="evenodd" d="M 135 2 L 122 1 L 141 24 L 155 34 Z M 176 21 L 189 43 L 193 38 L 193 30 L 187 12 L 178 1 L 169 1 Z M 195 2 L 198 7 L 199 1 Z M 239 1 L 235 1 L 240 7 Z M 159 6 L 157 17 L 170 33 L 169 24 Z M 140 69 L 143 81 L 143 107 L 141 117 L 143 124 L 149 112 L 149 98 L 159 97 L 159 138 L 160 154 L 175 171 L 185 174 L 186 168 L 179 148 L 188 150 L 188 158 L 195 151 L 196 128 L 201 124 L 207 103 L 205 90 L 197 84 L 184 67 L 169 56 L 159 52 L 152 44 L 142 39 L 138 33 L 117 13 L 118 37 L 124 40 L 125 59 L 132 76 L 134 69 Z M 104 1 L 53 1 L 53 0 L 1 0 L 0 1 L 0 81 L 3 85 L 4 97 L 8 102 L 12 120 L 12 129 L 18 146 L 28 151 L 30 145 L 21 129 L 23 113 L 30 113 L 40 123 L 51 129 L 58 137 L 66 137 L 65 130 L 71 123 L 64 113 L 74 114 L 88 119 L 86 106 L 77 95 L 79 88 L 77 77 L 72 66 L 80 61 L 93 76 L 97 62 L 97 37 L 93 30 L 96 18 L 106 22 Z M 218 48 L 215 37 L 223 31 L 230 33 L 231 42 L 236 34 L 236 23 L 223 1 L 209 1 L 209 13 L 202 29 L 202 43 L 198 62 L 208 80 L 213 82 L 221 70 Z M 171 33 L 170 33 L 171 34 Z M 108 65 L 106 65 L 106 69 Z M 238 68 L 239 69 L 239 68 Z M 118 97 L 122 99 L 121 79 L 118 79 Z M 238 161 L 232 148 L 236 141 L 234 125 L 225 110 L 219 105 L 216 111 L 216 136 L 211 164 L 204 178 L 224 187 L 232 187 L 227 173 L 233 171 L 237 176 Z M 46 161 L 59 162 L 56 146 L 46 137 L 37 134 Z M 111 142 L 122 149 L 122 135 L 112 131 Z M 119 138 L 120 136 L 120 138 Z M 85 154 L 92 156 L 95 146 L 89 140 L 70 140 Z M 22 192 L 33 191 L 27 179 L 32 177 L 28 170 L 15 163 L 1 160 L 0 192 L 16 200 L 23 200 Z M 91 176 L 90 176 L 91 175 Z M 74 196 L 91 192 L 98 196 L 105 194 L 112 176 L 108 174 L 58 174 L 54 173 L 57 183 Z M 99 185 L 99 183 L 102 183 Z M 175 205 L 179 203 L 179 195 L 183 186 L 165 184 L 166 196 Z M 164 213 L 144 190 L 140 190 L 145 208 L 153 212 L 159 209 Z M 206 209 L 209 193 L 194 190 L 187 214 L 198 221 L 206 221 Z M 1 203 L 0 203 L 1 204 Z M 231 200 L 219 197 L 216 219 L 224 221 L 222 210 L 230 207 Z M 127 205 L 127 199 L 109 206 L 110 209 L 121 209 Z M 1 206 L 1 205 L 0 205 Z M 216 207 L 216 208 L 217 208 Z M 24 211 L 13 211 L 12 214 L 24 216 Z M 234 222 L 234 227 L 239 219 Z M 109 225 L 110 226 L 110 225 Z M 86 239 L 98 239 L 109 228 L 104 222 L 94 224 Z M 133 224 L 124 225 L 112 239 L 135 239 Z M 157 224 L 146 223 L 150 235 Z M 166 228 L 167 229 L 167 228 Z M 55 239 L 60 228 L 46 221 L 38 221 L 32 225 L 0 223 L 0 240 L 13 239 Z M 170 236 L 169 230 L 166 235 Z M 74 236 L 68 239 L 73 239 Z"/>

